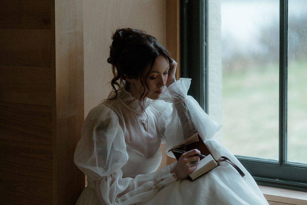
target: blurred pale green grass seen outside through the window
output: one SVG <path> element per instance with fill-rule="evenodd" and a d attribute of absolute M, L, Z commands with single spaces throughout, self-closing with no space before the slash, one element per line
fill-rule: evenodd
<path fill-rule="evenodd" d="M 288 66 L 288 161 L 307 163 L 307 62 Z M 278 160 L 278 65 L 223 72 L 223 144 Z"/>

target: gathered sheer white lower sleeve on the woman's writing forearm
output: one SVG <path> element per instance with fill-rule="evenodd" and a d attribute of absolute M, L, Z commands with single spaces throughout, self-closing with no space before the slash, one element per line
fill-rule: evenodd
<path fill-rule="evenodd" d="M 169 166 L 150 175 L 136 175 L 134 178 L 122 178 L 122 171 L 119 170 L 97 180 L 95 188 L 101 201 L 113 205 L 128 205 L 150 200 L 158 191 L 176 180 L 176 175 L 170 173 Z"/>

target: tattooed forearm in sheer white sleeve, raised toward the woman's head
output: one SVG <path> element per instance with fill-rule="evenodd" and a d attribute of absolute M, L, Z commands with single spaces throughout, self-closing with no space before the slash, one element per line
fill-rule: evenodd
<path fill-rule="evenodd" d="M 213 121 L 193 97 L 187 95 L 190 81 L 185 78 L 179 79 L 169 86 L 159 98 L 173 104 L 173 111 L 169 116 L 170 121 L 165 127 L 165 130 L 172 129 L 173 131 L 167 132 L 166 135 L 170 137 L 170 135 L 177 134 L 180 136 L 177 136 L 176 139 L 185 140 L 198 132 L 203 140 L 207 140 L 213 137 L 221 125 Z M 173 146 L 176 143 L 179 143 L 178 140 L 173 140 Z"/>

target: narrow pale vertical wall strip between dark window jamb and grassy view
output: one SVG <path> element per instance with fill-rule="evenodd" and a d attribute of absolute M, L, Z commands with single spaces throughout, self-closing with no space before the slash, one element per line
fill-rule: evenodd
<path fill-rule="evenodd" d="M 222 123 L 221 2 L 209 0 L 209 115 Z M 223 127 L 222 127 L 223 128 Z M 214 138 L 222 141 L 222 128 Z"/>

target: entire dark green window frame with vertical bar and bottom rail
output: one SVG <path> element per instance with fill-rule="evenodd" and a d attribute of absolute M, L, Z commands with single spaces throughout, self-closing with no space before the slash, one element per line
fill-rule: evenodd
<path fill-rule="evenodd" d="M 181 76 L 189 95 L 208 110 L 208 0 L 181 0 Z M 279 160 L 236 156 L 259 185 L 307 191 L 307 164 L 287 162 L 288 0 L 280 0 Z"/>

